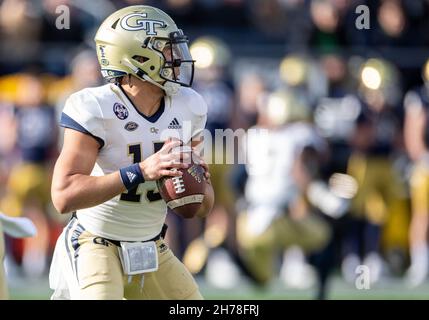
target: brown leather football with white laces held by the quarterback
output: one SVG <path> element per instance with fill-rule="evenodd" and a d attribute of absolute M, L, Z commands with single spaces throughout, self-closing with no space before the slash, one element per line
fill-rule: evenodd
<path fill-rule="evenodd" d="M 183 175 L 157 180 L 158 190 L 171 210 L 185 219 L 190 219 L 195 216 L 204 199 L 204 169 L 191 163 L 187 169 L 176 170 L 182 171 Z"/>

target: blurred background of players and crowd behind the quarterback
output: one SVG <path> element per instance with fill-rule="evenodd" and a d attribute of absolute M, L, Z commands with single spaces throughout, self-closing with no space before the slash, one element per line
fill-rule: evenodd
<path fill-rule="evenodd" d="M 271 170 L 213 164 L 212 214 L 168 216 L 168 243 L 203 295 L 427 298 L 428 0 L 0 0 L 0 211 L 39 231 L 6 236 L 11 298 L 50 296 L 69 219 L 50 202 L 58 118 L 68 95 L 103 84 L 95 31 L 133 4 L 189 36 L 207 129 L 269 132 L 239 139 Z M 56 27 L 60 5 L 70 29 Z"/>

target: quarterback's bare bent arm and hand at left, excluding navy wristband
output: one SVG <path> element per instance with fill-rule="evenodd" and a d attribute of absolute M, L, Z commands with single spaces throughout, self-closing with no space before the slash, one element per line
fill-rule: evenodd
<path fill-rule="evenodd" d="M 171 141 L 152 156 L 139 163 L 144 180 L 156 180 L 161 176 L 181 175 L 167 168 L 181 168 L 180 155 L 169 153 L 179 142 Z M 64 145 L 57 160 L 52 180 L 52 202 L 60 213 L 89 208 L 125 192 L 127 188 L 119 171 L 94 177 L 90 176 L 99 152 L 99 143 L 90 135 L 65 129 Z"/>

